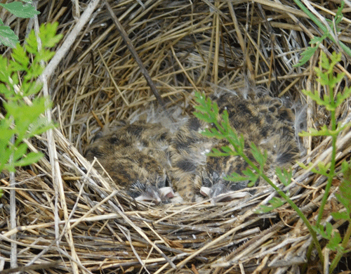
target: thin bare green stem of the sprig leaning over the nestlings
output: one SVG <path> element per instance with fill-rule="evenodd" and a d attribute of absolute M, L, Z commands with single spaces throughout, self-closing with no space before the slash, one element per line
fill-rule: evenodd
<path fill-rule="evenodd" d="M 223 129 L 220 127 L 219 128 L 220 131 L 222 132 Z M 224 131 L 222 132 L 223 135 L 225 135 L 225 137 L 227 138 L 228 134 L 225 133 Z M 322 262 L 322 265 L 324 264 L 324 257 L 322 254 L 322 247 L 320 246 L 318 239 L 317 239 L 317 233 L 313 230 L 312 225 L 310 223 L 310 221 L 308 221 L 308 219 L 306 218 L 306 216 L 303 214 L 303 212 L 300 210 L 300 208 L 293 202 L 293 200 L 291 200 L 289 198 L 288 195 L 286 195 L 282 190 L 280 190 L 277 185 L 274 185 L 274 183 L 270 180 L 270 178 L 268 178 L 261 169 L 259 169 L 258 167 L 256 167 L 255 164 L 253 164 L 253 162 L 249 159 L 249 157 L 247 157 L 244 152 L 241 152 L 241 150 L 239 149 L 239 147 L 237 145 L 235 145 L 230 138 L 227 138 L 227 140 L 230 142 L 230 144 L 234 147 L 234 150 L 238 152 L 238 154 L 244 158 L 244 160 L 246 161 L 246 163 L 248 163 L 250 165 L 250 167 L 252 169 L 254 169 L 257 174 L 259 174 L 260 176 L 262 176 L 262 178 L 267 181 L 267 183 L 269 183 L 272 188 L 274 188 L 274 190 L 277 191 L 277 193 L 282 196 L 284 198 L 284 200 L 286 200 L 286 202 L 288 202 L 290 204 L 290 206 L 296 211 L 296 213 L 298 214 L 298 216 L 303 220 L 303 222 L 305 223 L 305 226 L 307 226 L 308 231 L 310 232 L 311 236 L 312 236 L 312 242 L 314 243 L 314 245 L 316 246 L 318 255 L 319 255 L 319 259 Z"/>

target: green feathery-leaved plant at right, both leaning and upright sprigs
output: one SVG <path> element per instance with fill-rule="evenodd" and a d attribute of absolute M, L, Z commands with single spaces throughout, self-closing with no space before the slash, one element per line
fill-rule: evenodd
<path fill-rule="evenodd" d="M 221 148 L 222 150 L 213 150 L 209 155 L 223 157 L 228 155 L 239 155 L 242 157 L 248 164 L 249 167 L 243 171 L 243 175 L 234 173 L 227 177 L 230 181 L 245 181 L 249 180 L 251 182 L 256 182 L 258 177 L 262 177 L 267 183 L 269 183 L 274 190 L 284 199 L 279 199 L 278 197 L 274 197 L 269 201 L 269 206 L 262 206 L 258 213 L 268 212 L 274 208 L 282 206 L 285 202 L 288 202 L 290 206 L 296 211 L 298 216 L 303 220 L 305 226 L 310 232 L 312 236 L 312 244 L 310 249 L 308 250 L 308 254 L 312 251 L 313 247 L 316 247 L 317 252 L 319 254 L 319 259 L 323 263 L 324 257 L 322 256 L 322 247 L 317 240 L 317 233 L 322 237 L 329 240 L 327 244 L 327 248 L 336 251 L 336 256 L 334 257 L 331 266 L 330 273 L 337 266 L 338 261 L 340 261 L 341 256 L 345 254 L 345 252 L 350 252 L 350 250 L 345 250 L 347 247 L 347 242 L 351 237 L 351 164 L 347 162 L 343 162 L 343 174 L 344 181 L 340 185 L 340 195 L 336 195 L 340 204 L 343 204 L 345 208 L 345 212 L 333 212 L 331 216 L 335 219 L 344 219 L 349 222 L 349 227 L 342 238 L 340 233 L 336 231 L 331 224 L 326 224 L 326 228 L 321 225 L 322 216 L 324 212 L 324 207 L 329 197 L 329 190 L 331 188 L 331 183 L 336 174 L 336 140 L 338 138 L 338 134 L 340 131 L 345 129 L 350 124 L 342 125 L 336 122 L 336 108 L 340 106 L 347 98 L 351 96 L 351 88 L 346 88 L 342 93 L 336 92 L 334 89 L 336 88 L 338 82 L 340 82 L 344 75 L 343 74 L 334 74 L 333 68 L 340 61 L 340 55 L 336 55 L 333 53 L 331 56 L 331 60 L 329 60 L 324 53 L 321 56 L 320 66 L 321 69 L 316 68 L 316 73 L 318 77 L 318 81 L 327 86 L 329 88 L 329 94 L 324 95 L 323 98 L 319 97 L 319 93 L 317 91 L 303 91 L 305 95 L 310 96 L 313 100 L 316 101 L 319 105 L 324 105 L 327 110 L 331 112 L 331 125 L 330 127 L 322 126 L 319 130 L 310 130 L 309 133 L 303 132 L 300 133 L 300 136 L 331 136 L 332 138 L 332 152 L 331 152 L 331 162 L 324 164 L 318 163 L 317 167 L 312 167 L 313 164 L 310 163 L 308 166 L 300 163 L 300 166 L 305 169 L 311 169 L 315 174 L 320 174 L 322 176 L 327 177 L 327 185 L 325 188 L 324 197 L 322 199 L 321 206 L 319 207 L 317 223 L 312 225 L 310 221 L 304 216 L 303 212 L 300 211 L 298 206 L 290 199 L 289 195 L 286 195 L 277 185 L 274 185 L 270 178 L 268 178 L 263 171 L 263 167 L 265 166 L 265 162 L 267 161 L 267 152 L 261 152 L 259 148 L 256 147 L 253 143 L 251 144 L 251 153 L 256 162 L 253 162 L 249 159 L 248 155 L 244 150 L 244 137 L 239 136 L 235 129 L 232 129 L 230 126 L 230 122 L 228 119 L 228 113 L 226 110 L 223 111 L 222 116 L 218 113 L 218 105 L 213 102 L 209 98 L 205 98 L 201 96 L 200 93 L 196 93 L 196 100 L 199 105 L 195 106 L 197 112 L 194 112 L 194 115 L 201 120 L 204 120 L 211 127 L 208 127 L 203 131 L 205 136 L 211 138 L 223 139 L 225 138 L 230 145 L 224 146 Z M 220 119 L 218 119 L 220 117 Z M 279 167 L 276 169 L 276 175 L 279 180 L 284 185 L 289 185 L 291 182 L 291 172 L 286 171 L 286 169 L 280 169 Z M 284 202 L 285 201 L 285 202 Z"/>

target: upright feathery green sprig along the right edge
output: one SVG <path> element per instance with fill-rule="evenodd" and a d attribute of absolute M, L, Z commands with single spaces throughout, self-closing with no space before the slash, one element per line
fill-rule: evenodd
<path fill-rule="evenodd" d="M 326 224 L 326 230 L 321 226 L 321 221 L 322 221 L 322 216 L 324 214 L 324 207 L 326 205 L 326 202 L 329 197 L 329 190 L 331 188 L 331 184 L 333 181 L 333 178 L 337 175 L 336 174 L 336 141 L 338 138 L 338 135 L 340 131 L 345 129 L 347 126 L 350 126 L 350 124 L 345 124 L 342 125 L 341 123 L 336 122 L 336 108 L 339 107 L 343 102 L 351 96 L 351 88 L 345 88 L 344 91 L 337 92 L 335 91 L 335 88 L 337 84 L 343 79 L 344 73 L 340 74 L 334 74 L 333 73 L 333 68 L 334 66 L 340 62 L 341 56 L 340 54 L 333 53 L 331 55 L 331 59 L 326 57 L 324 53 L 322 53 L 321 56 L 321 62 L 319 63 L 320 67 L 316 67 L 315 71 L 318 77 L 318 80 L 320 84 L 327 86 L 329 90 L 329 94 L 324 94 L 323 98 L 320 98 L 318 95 L 317 91 L 305 91 L 303 90 L 303 93 L 305 95 L 310 96 L 317 104 L 319 105 L 324 105 L 327 110 L 330 111 L 331 113 L 331 125 L 330 128 L 328 128 L 326 125 L 322 126 L 321 129 L 315 130 L 315 129 L 310 129 L 310 132 L 302 132 L 300 133 L 300 136 L 331 136 L 331 162 L 329 163 L 322 163 L 319 162 L 317 164 L 317 167 L 312 167 L 312 163 L 308 164 L 308 166 L 305 166 L 302 163 L 300 164 L 300 167 L 303 167 L 305 169 L 311 169 L 312 172 L 315 174 L 320 174 L 322 176 L 326 176 L 328 178 L 328 181 L 326 183 L 326 188 L 324 190 L 324 195 L 322 198 L 321 205 L 319 207 L 318 211 L 318 216 L 317 216 L 317 223 L 314 225 L 314 230 L 316 230 L 322 237 L 326 238 L 329 240 L 329 244 L 327 245 L 328 248 L 335 250 L 337 252 L 337 256 L 333 259 L 331 266 L 330 266 L 330 273 L 333 271 L 333 269 L 336 267 L 338 264 L 338 261 L 340 261 L 341 256 L 345 253 L 345 244 L 343 244 L 346 241 L 346 244 L 348 240 L 350 240 L 351 236 L 351 222 L 350 222 L 350 207 L 351 207 L 351 195 L 350 195 L 350 168 L 351 168 L 351 163 L 347 164 L 347 162 L 343 162 L 343 169 L 342 172 L 344 174 L 344 181 L 340 185 L 340 191 L 342 191 L 342 195 L 336 195 L 338 198 L 338 201 L 343 204 L 347 212 L 349 213 L 348 218 L 346 219 L 349 221 L 349 228 L 347 229 L 347 233 L 344 236 L 343 243 L 340 244 L 342 239 L 340 238 L 340 233 L 332 233 L 331 230 L 331 225 Z M 349 172 L 349 176 L 345 176 Z M 345 186 L 346 185 L 346 186 Z M 347 186 L 348 185 L 348 186 Z M 347 190 L 347 188 L 349 188 Z M 345 195 L 345 196 L 343 196 Z M 333 218 L 340 218 L 340 217 L 345 217 L 345 213 L 340 214 L 338 212 L 334 212 L 331 214 Z M 312 245 L 310 246 L 310 249 L 307 252 L 307 257 L 310 256 L 310 253 L 312 251 Z"/>

